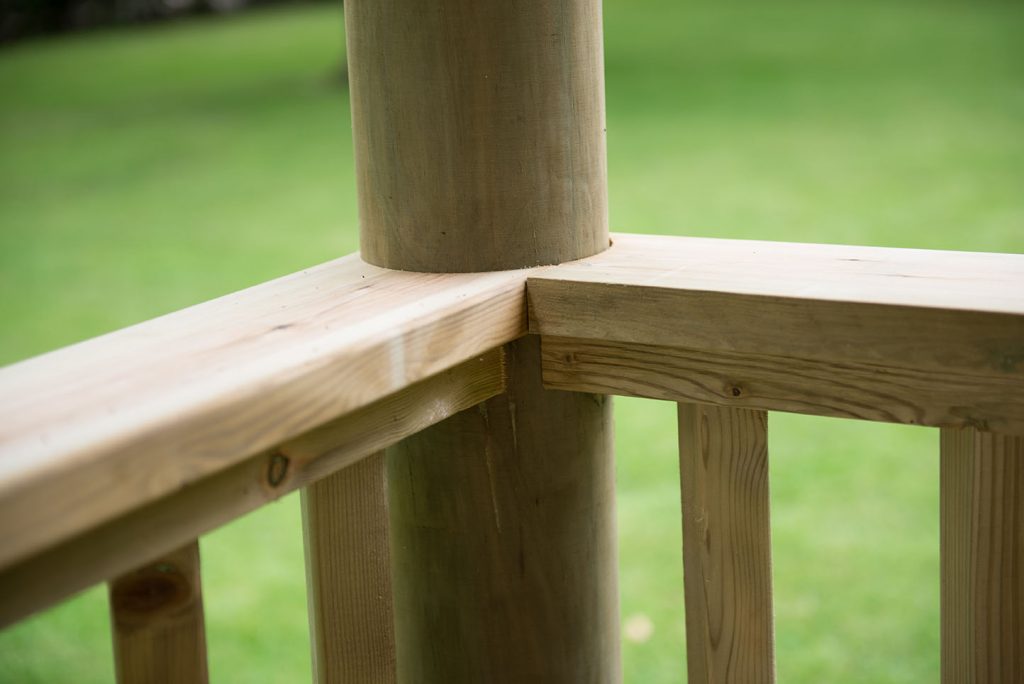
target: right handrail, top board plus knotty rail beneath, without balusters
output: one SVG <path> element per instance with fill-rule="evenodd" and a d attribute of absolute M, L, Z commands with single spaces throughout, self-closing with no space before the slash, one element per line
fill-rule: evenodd
<path fill-rule="evenodd" d="M 527 293 L 552 388 L 1024 433 L 1024 256 L 624 234 Z"/>

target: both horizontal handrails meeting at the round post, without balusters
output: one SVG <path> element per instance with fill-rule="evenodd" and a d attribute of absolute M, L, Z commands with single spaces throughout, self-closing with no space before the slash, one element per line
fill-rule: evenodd
<path fill-rule="evenodd" d="M 527 303 L 551 388 L 1024 432 L 1024 256 L 625 234 L 518 271 L 353 255 L 0 370 L 0 624 L 497 395 Z"/>

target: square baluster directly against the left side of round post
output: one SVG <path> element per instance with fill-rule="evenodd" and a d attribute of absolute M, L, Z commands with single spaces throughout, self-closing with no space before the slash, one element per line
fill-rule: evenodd
<path fill-rule="evenodd" d="M 302 490 L 313 678 L 395 679 L 384 452 Z"/>

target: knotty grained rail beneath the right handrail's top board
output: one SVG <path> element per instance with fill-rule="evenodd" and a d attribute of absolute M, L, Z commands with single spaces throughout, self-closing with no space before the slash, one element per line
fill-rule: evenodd
<path fill-rule="evenodd" d="M 562 337 L 542 347 L 553 389 L 1024 434 L 1014 378 Z"/>

